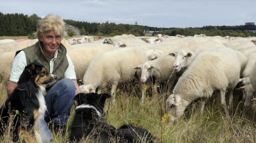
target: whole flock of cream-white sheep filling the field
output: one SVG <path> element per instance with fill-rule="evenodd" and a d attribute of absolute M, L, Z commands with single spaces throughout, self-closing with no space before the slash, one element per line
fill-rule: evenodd
<path fill-rule="evenodd" d="M 15 52 L 37 40 L 0 40 L 0 80 L 6 83 Z M 256 37 L 97 36 L 72 38 L 62 43 L 75 66 L 77 79 L 83 81 L 84 93 L 101 92 L 111 85 L 114 95 L 119 83 L 139 77 L 142 84 L 153 85 L 158 94 L 160 83 L 168 85 L 166 113 L 179 119 L 185 108 L 201 99 L 201 112 L 214 91 L 221 99 L 226 116 L 232 107 L 233 90 L 241 83 L 244 106 L 252 105 L 256 91 Z M 141 85 L 142 85 L 141 84 Z M 229 97 L 226 104 L 225 96 Z M 145 98 L 142 92 L 142 101 Z"/>

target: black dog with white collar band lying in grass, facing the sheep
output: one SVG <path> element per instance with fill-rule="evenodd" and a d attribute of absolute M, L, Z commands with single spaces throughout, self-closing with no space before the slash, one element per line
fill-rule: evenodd
<path fill-rule="evenodd" d="M 92 137 L 101 143 L 154 143 L 147 130 L 134 125 L 122 125 L 115 129 L 102 119 L 104 103 L 109 94 L 80 93 L 74 97 L 75 115 L 71 124 L 70 142 L 82 137 Z"/>

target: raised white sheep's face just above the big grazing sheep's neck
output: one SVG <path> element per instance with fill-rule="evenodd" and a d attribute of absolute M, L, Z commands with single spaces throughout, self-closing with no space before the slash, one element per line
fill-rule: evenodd
<path fill-rule="evenodd" d="M 174 71 L 180 71 L 188 66 L 188 58 L 192 56 L 192 53 L 181 50 L 177 54 L 170 53 L 169 55 L 175 56 L 175 61 L 173 64 Z"/>

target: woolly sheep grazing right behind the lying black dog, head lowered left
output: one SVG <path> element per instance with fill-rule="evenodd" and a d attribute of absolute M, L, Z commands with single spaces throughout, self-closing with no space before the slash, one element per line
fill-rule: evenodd
<path fill-rule="evenodd" d="M 147 61 L 145 50 L 139 48 L 121 48 L 97 54 L 83 75 L 83 87 L 98 88 L 98 93 L 107 84 L 112 84 L 114 95 L 118 83 L 134 79 L 134 67 Z"/>

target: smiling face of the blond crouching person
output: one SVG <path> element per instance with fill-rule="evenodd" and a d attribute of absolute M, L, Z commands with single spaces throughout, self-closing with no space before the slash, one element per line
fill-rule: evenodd
<path fill-rule="evenodd" d="M 61 43 L 61 36 L 56 35 L 53 30 L 48 31 L 42 39 L 44 44 L 43 51 L 46 53 L 55 53 Z"/>

